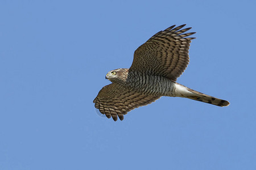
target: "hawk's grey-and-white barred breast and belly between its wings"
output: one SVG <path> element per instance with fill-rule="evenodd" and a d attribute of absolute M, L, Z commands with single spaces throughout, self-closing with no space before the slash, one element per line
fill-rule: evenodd
<path fill-rule="evenodd" d="M 129 72 L 126 86 L 145 95 L 176 96 L 175 82 L 164 76 Z"/>

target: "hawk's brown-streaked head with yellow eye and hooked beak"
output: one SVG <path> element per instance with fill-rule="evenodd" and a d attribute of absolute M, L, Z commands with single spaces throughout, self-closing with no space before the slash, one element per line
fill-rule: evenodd
<path fill-rule="evenodd" d="M 127 79 L 129 69 L 115 69 L 109 71 L 105 78 L 112 83 L 124 83 Z"/>

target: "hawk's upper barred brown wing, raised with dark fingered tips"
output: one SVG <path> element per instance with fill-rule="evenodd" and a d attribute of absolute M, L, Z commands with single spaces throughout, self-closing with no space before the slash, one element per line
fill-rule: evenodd
<path fill-rule="evenodd" d="M 176 81 L 189 63 L 189 43 L 195 39 L 187 37 L 195 32 L 184 33 L 191 29 L 181 29 L 184 26 L 185 24 L 174 28 L 175 25 L 172 25 L 139 46 L 134 52 L 130 71 L 147 72 Z"/>

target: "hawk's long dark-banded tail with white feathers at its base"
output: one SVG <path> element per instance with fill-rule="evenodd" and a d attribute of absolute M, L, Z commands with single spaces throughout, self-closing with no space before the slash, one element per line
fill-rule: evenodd
<path fill-rule="evenodd" d="M 214 104 L 219 107 L 225 107 L 229 105 L 229 102 L 226 100 L 202 94 L 201 92 L 192 90 L 191 88 L 185 87 L 179 83 L 175 83 L 175 85 L 177 97 L 185 97 L 192 100 L 202 101 L 204 103 Z"/>

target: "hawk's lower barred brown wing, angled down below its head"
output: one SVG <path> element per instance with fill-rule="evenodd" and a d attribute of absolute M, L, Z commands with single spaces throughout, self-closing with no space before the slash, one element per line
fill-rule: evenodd
<path fill-rule="evenodd" d="M 104 86 L 93 100 L 95 107 L 106 117 L 117 121 L 117 116 L 123 120 L 123 114 L 132 109 L 147 105 L 159 99 L 160 96 L 142 95 L 117 83 Z"/>

